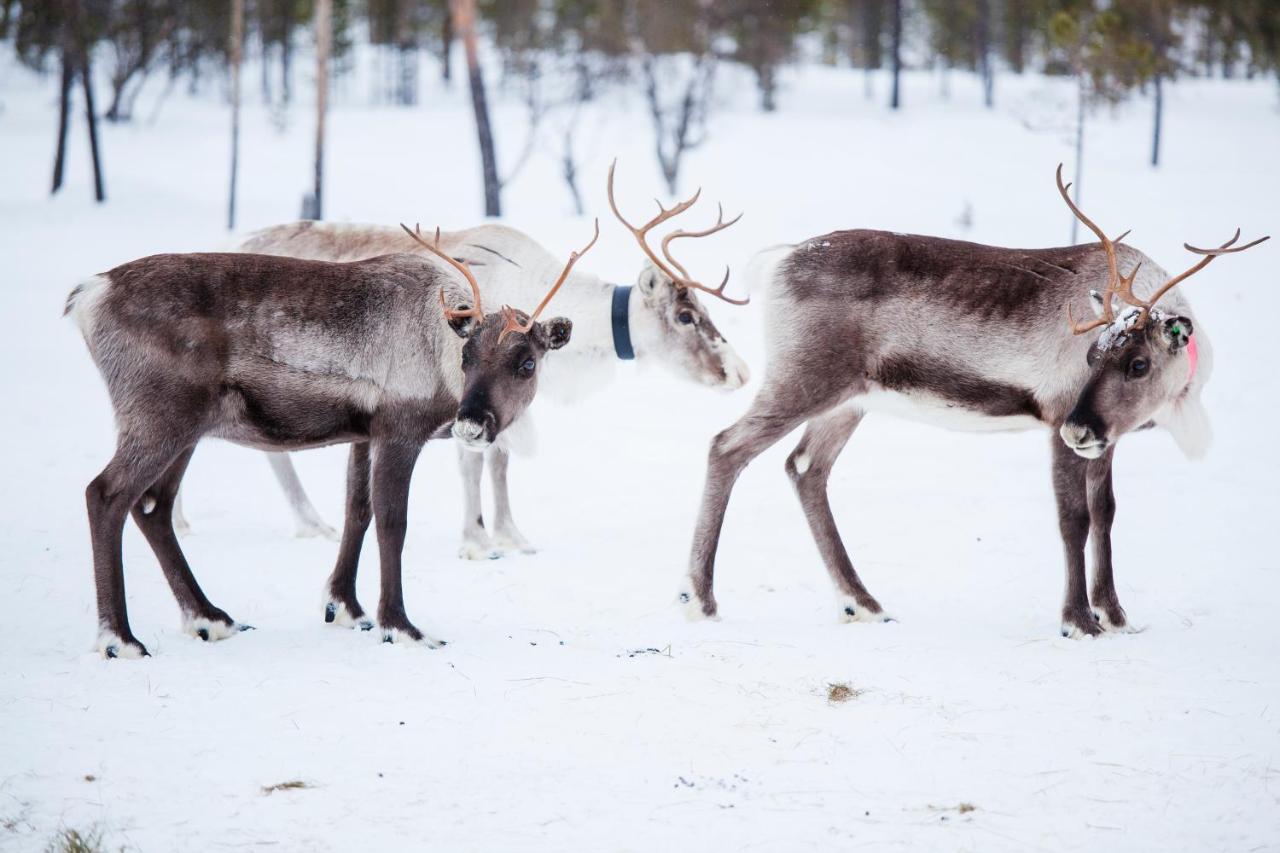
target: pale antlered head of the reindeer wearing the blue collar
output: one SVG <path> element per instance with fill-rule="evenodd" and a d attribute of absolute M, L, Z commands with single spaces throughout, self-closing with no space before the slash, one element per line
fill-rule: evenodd
<path fill-rule="evenodd" d="M 689 272 L 671 255 L 671 243 L 685 237 L 708 237 L 723 231 L 742 218 L 741 214 L 724 222 L 724 209 L 721 207 L 716 224 L 704 231 L 677 229 L 662 238 L 662 256 L 648 243 L 646 236 L 653 228 L 673 219 L 694 206 L 701 190 L 687 201 L 681 201 L 671 209 L 658 204 L 658 213 L 639 228 L 628 223 L 618 211 L 613 199 L 614 161 L 609 167 L 608 196 L 613 215 L 635 236 L 640 250 L 648 259 L 636 280 L 639 300 L 632 300 L 631 328 L 637 345 L 658 361 L 677 373 L 708 386 L 735 389 L 746 384 L 750 373 L 746 362 L 733 351 L 724 336 L 712 323 L 707 309 L 698 300 L 696 291 L 710 293 L 731 305 L 746 305 L 748 300 L 733 300 L 724 296 L 728 283 L 728 269 L 719 287 L 700 284 L 689 277 Z"/>

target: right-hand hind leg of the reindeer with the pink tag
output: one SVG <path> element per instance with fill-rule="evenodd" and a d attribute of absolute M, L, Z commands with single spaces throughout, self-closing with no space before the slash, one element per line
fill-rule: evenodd
<path fill-rule="evenodd" d="M 827 498 L 831 467 L 861 423 L 863 415 L 860 409 L 840 406 L 812 419 L 800 443 L 787 457 L 786 470 L 800 497 L 800 506 L 804 507 L 822 561 L 840 590 L 841 619 L 846 622 L 887 622 L 892 617 L 867 592 L 854 570 Z"/>

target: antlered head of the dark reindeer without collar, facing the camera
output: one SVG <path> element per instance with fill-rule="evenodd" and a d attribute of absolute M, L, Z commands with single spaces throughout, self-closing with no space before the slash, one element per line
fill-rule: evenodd
<path fill-rule="evenodd" d="M 422 240 L 421 233 L 401 224 L 410 237 L 428 251 L 447 261 L 467 279 L 474 305 L 449 309 L 440 288 L 440 307 L 449 328 L 465 338 L 462 346 L 462 398 L 453 419 L 453 437 L 472 451 L 484 451 L 502 430 L 520 418 L 538 392 L 538 368 L 543 356 L 568 343 L 573 324 L 562 316 L 539 320 L 543 309 L 568 278 L 573 264 L 595 245 L 600 237 L 600 223 L 595 223 L 595 236 L 581 251 L 571 252 L 568 263 L 552 288 L 534 309 L 525 314 L 504 305 L 500 311 L 485 314 L 480 304 L 480 286 L 466 261 L 451 257 L 439 247 L 440 231 L 435 231 L 435 243 Z"/>

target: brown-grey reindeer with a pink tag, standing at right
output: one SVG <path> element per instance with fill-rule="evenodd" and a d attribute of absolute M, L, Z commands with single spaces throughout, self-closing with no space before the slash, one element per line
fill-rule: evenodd
<path fill-rule="evenodd" d="M 1111 565 L 1111 461 L 1121 435 L 1170 429 L 1203 452 L 1199 401 L 1212 351 L 1172 288 L 1215 257 L 1240 252 L 1240 232 L 1170 277 L 1112 241 L 1057 188 L 1098 243 L 1000 248 L 882 231 L 841 231 L 787 247 L 767 274 L 768 366 L 748 412 L 712 441 L 701 510 L 680 593 L 695 617 L 717 615 L 712 575 L 730 492 L 742 469 L 805 424 L 786 461 L 845 621 L 888 621 L 845 551 L 827 500 L 840 451 L 876 409 L 952 428 L 1048 426 L 1053 492 L 1066 552 L 1062 634 L 1129 630 Z M 1128 232 L 1126 232 L 1128 233 Z M 1121 269 L 1128 274 L 1121 275 Z M 1102 292 L 1091 292 L 1101 282 Z M 1116 302 L 1121 304 L 1120 310 Z M 1092 304 L 1097 319 L 1076 323 Z M 1061 321 L 1064 307 L 1069 324 Z M 1101 329 L 1100 334 L 1089 334 Z M 1093 538 L 1093 588 L 1084 546 Z"/>

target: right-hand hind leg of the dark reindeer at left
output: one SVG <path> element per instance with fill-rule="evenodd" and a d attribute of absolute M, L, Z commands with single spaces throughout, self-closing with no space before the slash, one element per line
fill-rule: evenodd
<path fill-rule="evenodd" d="M 183 630 L 209 642 L 227 639 L 243 630 L 250 630 L 252 626 L 238 624 L 225 611 L 210 603 L 196 581 L 196 576 L 191 573 L 191 566 L 187 564 L 182 548 L 178 547 L 173 508 L 182 476 L 187 473 L 187 465 L 191 462 L 191 455 L 195 450 L 192 446 L 178 455 L 178 459 L 160 479 L 142 493 L 138 502 L 133 505 L 132 514 L 133 521 L 142 530 L 151 551 L 155 552 L 160 569 L 164 570 L 173 597 L 178 599 Z"/>

